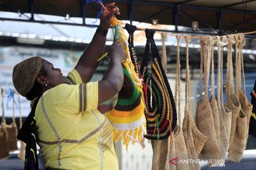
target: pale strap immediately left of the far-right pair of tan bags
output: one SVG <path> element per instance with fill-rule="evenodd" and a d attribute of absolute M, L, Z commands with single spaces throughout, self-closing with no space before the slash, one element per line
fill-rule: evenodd
<path fill-rule="evenodd" d="M 216 37 L 216 45 L 218 47 L 218 81 L 217 81 L 217 101 L 218 103 L 223 102 L 223 94 L 221 93 L 223 91 L 223 85 L 222 85 L 222 72 L 223 72 L 223 65 L 222 65 L 222 60 L 223 60 L 223 46 L 228 45 L 228 42 L 221 42 L 220 41 L 220 36 Z"/>

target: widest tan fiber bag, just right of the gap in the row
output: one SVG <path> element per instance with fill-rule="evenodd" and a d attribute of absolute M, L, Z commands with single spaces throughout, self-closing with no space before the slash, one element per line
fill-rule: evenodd
<path fill-rule="evenodd" d="M 210 37 L 201 38 L 201 50 L 203 50 L 204 74 L 205 74 L 205 97 L 199 101 L 196 108 L 196 123 L 198 130 L 207 137 L 206 144 L 203 146 L 202 159 L 218 159 L 220 148 L 215 133 L 213 113 L 208 101 L 208 79 L 210 71 L 211 50 L 213 50 L 212 42 L 208 42 Z"/>

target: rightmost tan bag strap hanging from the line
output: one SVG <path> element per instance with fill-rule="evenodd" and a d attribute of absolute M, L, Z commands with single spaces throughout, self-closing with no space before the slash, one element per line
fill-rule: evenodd
<path fill-rule="evenodd" d="M 242 55 L 242 47 L 245 46 L 245 35 L 240 33 L 238 34 L 239 35 L 239 39 L 240 39 L 240 44 L 238 45 L 238 50 L 239 50 L 239 58 L 240 58 L 240 72 L 242 71 L 241 73 L 241 77 L 242 78 L 242 81 L 240 79 L 240 83 L 242 83 L 242 90 L 244 91 L 245 93 L 245 70 L 244 70 L 244 65 L 243 65 L 243 55 Z M 240 88 L 241 88 L 241 84 L 240 84 Z"/>

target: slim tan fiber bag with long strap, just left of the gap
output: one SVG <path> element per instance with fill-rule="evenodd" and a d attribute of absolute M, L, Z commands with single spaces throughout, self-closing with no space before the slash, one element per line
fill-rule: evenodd
<path fill-rule="evenodd" d="M 188 65 L 188 44 L 191 42 L 191 38 L 186 36 L 186 103 L 185 103 L 185 115 L 183 120 L 183 135 L 186 142 L 186 149 L 188 152 L 188 159 L 196 160 L 196 149 L 193 141 L 193 132 L 191 129 L 191 124 L 193 123 L 193 118 L 191 117 L 191 81 L 189 75 L 189 65 Z M 193 162 L 189 169 L 200 169 L 198 163 Z"/>

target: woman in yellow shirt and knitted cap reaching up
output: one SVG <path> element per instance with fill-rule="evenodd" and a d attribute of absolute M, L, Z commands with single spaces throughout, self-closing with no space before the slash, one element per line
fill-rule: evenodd
<path fill-rule="evenodd" d="M 35 101 L 27 118 L 30 121 L 26 120 L 18 134 L 29 145 L 25 169 L 38 166 L 32 141 L 35 136 L 46 169 L 118 169 L 110 123 L 97 111 L 100 103 L 122 88 L 125 52 L 118 40 L 108 52 L 110 66 L 102 80 L 89 82 L 98 65 L 97 59 L 104 52 L 112 18 L 114 14 L 119 15 L 114 3 L 106 7 L 110 12 L 103 11 L 100 27 L 68 77 L 63 77 L 60 69 L 41 57 L 31 57 L 14 67 L 16 90 Z M 35 128 L 31 128 L 33 125 Z M 35 159 L 35 164 L 29 159 Z"/>

